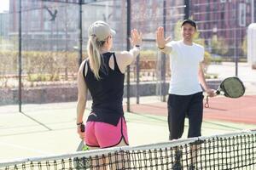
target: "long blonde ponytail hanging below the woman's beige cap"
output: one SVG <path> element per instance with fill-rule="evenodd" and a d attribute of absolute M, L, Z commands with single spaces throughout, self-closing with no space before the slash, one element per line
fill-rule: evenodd
<path fill-rule="evenodd" d="M 100 80 L 100 68 L 102 65 L 102 57 L 100 54 L 100 49 L 104 42 L 97 40 L 96 36 L 90 36 L 87 43 L 87 54 L 89 56 L 90 68 L 97 80 Z"/>

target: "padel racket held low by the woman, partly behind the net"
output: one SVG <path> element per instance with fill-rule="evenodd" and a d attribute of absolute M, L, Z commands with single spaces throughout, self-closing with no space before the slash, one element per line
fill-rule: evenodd
<path fill-rule="evenodd" d="M 80 127 L 81 127 L 81 132 L 84 133 L 85 131 L 84 124 L 81 124 Z M 85 151 L 85 150 L 89 150 L 89 147 L 86 144 L 84 144 L 84 140 L 82 139 L 77 151 Z M 81 157 L 81 158 L 75 157 L 73 159 L 73 166 L 75 167 L 75 169 L 84 169 L 84 168 L 90 167 L 90 162 L 85 157 Z"/>

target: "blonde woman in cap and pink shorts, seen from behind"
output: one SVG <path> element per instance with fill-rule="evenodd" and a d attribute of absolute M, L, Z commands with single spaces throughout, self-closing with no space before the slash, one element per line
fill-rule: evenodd
<path fill-rule="evenodd" d="M 127 128 L 122 106 L 125 68 L 139 54 L 142 34 L 131 31 L 133 48 L 121 53 L 110 52 L 115 32 L 103 21 L 96 21 L 89 27 L 87 52 L 79 67 L 77 125 L 81 139 L 90 150 L 128 145 Z M 81 132 L 87 92 L 92 97 L 85 133 Z"/>

